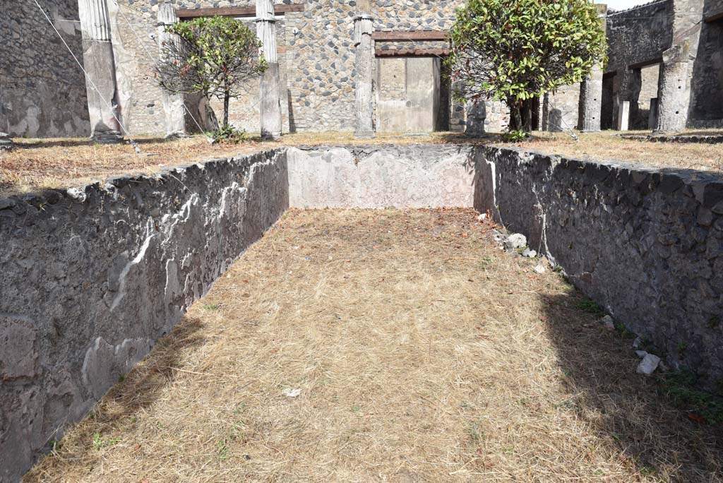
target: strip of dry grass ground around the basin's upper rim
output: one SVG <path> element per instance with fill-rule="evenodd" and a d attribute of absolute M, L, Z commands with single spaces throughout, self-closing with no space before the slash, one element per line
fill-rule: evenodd
<path fill-rule="evenodd" d="M 723 153 L 719 145 L 642 142 L 624 140 L 617 134 L 580 134 L 580 140 L 574 141 L 565 133 L 537 132 L 534 140 L 518 143 L 517 146 L 584 159 L 624 160 L 652 166 L 722 171 Z M 142 137 L 138 142 L 144 155 L 137 156 L 128 144 L 94 145 L 83 139 L 17 139 L 15 142 L 17 149 L 12 153 L 0 153 L 0 195 L 44 188 L 67 188 L 127 173 L 152 174 L 162 166 L 252 153 L 285 145 L 419 142 L 508 145 L 500 140 L 498 134 L 489 134 L 481 139 L 452 133 L 432 133 L 419 137 L 380 134 L 374 140 L 356 140 L 348 132 L 320 132 L 287 134 L 278 142 L 253 140 L 241 145 L 209 145 L 203 136 L 175 141 Z"/>

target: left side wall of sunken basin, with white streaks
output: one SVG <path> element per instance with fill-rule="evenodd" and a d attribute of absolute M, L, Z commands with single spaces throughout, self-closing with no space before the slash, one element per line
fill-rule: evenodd
<path fill-rule="evenodd" d="M 0 482 L 20 479 L 286 208 L 283 151 L 0 200 Z"/>

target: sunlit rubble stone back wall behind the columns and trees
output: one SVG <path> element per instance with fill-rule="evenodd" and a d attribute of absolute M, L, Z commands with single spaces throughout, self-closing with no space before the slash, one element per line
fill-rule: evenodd
<path fill-rule="evenodd" d="M 111 2 L 112 3 L 112 2 Z M 176 8 L 250 7 L 252 0 L 188 1 L 174 0 Z M 291 4 L 296 2 L 284 1 Z M 301 3 L 301 2 L 299 2 Z M 126 22 L 114 12 L 114 46 L 119 67 L 121 104 L 129 131 L 138 133 L 163 132 L 161 91 L 152 75 L 158 46 L 155 35 L 155 15 L 158 4 L 147 0 L 121 0 Z M 449 30 L 454 11 L 463 0 L 449 2 L 407 1 L 397 4 L 384 0 L 371 1 L 375 29 L 387 31 Z M 354 45 L 353 19 L 358 11 L 356 0 L 307 0 L 304 12 L 287 12 L 276 22 L 279 64 L 283 88 L 282 110 L 284 132 L 352 131 L 354 130 Z M 128 25 L 128 24 L 132 24 Z M 137 36 L 138 35 L 138 36 Z M 139 44 L 138 37 L 145 44 Z M 380 50 L 408 48 L 445 48 L 440 41 L 378 42 Z M 375 82 L 376 88 L 376 82 Z M 259 82 L 249 82 L 248 93 L 231 102 L 230 119 L 249 132 L 259 129 Z M 221 103 L 211 103 L 217 116 Z M 461 131 L 466 122 L 465 108 L 458 103 L 450 107 L 450 129 Z M 503 129 L 508 123 L 508 111 L 500 102 L 487 103 L 487 128 Z M 195 126 L 189 124 L 190 128 Z"/>

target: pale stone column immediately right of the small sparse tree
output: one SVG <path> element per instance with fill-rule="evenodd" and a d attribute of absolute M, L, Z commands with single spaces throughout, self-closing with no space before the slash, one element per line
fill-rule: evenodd
<path fill-rule="evenodd" d="M 261 137 L 281 137 L 281 74 L 276 51 L 276 25 L 273 0 L 256 0 L 256 35 L 261 40 L 268 69 L 261 77 L 260 111 Z"/>

